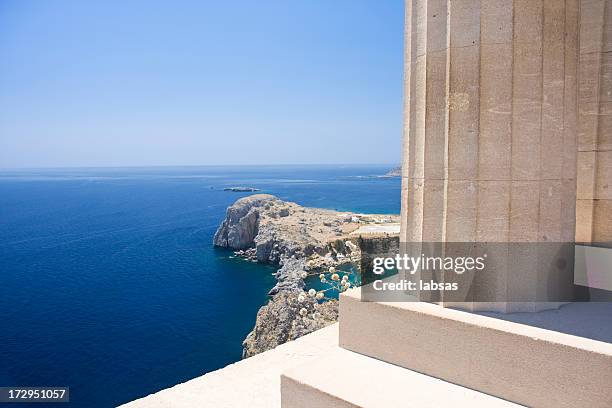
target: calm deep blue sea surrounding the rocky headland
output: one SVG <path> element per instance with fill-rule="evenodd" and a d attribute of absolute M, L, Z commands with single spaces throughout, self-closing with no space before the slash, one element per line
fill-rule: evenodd
<path fill-rule="evenodd" d="M 239 360 L 274 269 L 212 247 L 249 194 L 222 188 L 399 213 L 400 181 L 367 177 L 387 170 L 0 172 L 0 386 L 70 386 L 68 406 L 109 407 Z"/>

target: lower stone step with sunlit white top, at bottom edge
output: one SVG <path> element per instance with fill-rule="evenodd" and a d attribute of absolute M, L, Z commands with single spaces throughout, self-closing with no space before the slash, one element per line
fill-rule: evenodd
<path fill-rule="evenodd" d="M 281 376 L 282 408 L 519 407 L 340 347 Z"/>

